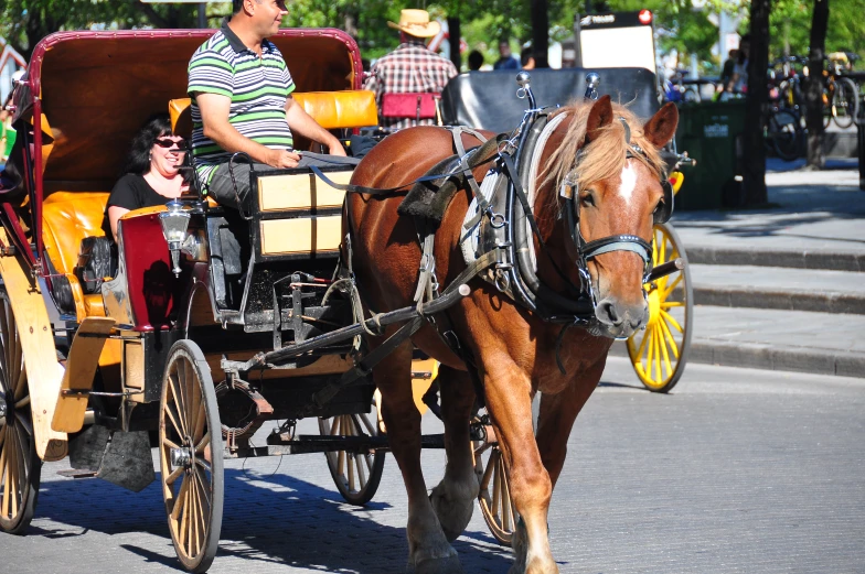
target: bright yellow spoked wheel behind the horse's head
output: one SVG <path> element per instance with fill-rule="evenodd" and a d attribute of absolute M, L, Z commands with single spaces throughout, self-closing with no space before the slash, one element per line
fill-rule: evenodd
<path fill-rule="evenodd" d="M 647 389 L 668 392 L 675 387 L 687 362 L 694 295 L 691 270 L 682 240 L 672 226 L 654 226 L 652 263 L 659 266 L 681 257 L 685 268 L 644 285 L 649 299 L 645 331 L 628 339 L 628 355 Z"/>

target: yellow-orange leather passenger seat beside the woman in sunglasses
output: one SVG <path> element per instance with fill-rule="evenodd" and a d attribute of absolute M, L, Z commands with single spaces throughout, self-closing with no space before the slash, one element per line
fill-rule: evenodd
<path fill-rule="evenodd" d="M 42 240 L 51 272 L 68 281 L 74 313 L 79 322 L 87 316 L 105 316 L 102 293 L 86 292 L 76 273 L 76 266 L 82 253 L 82 241 L 90 237 L 105 237 L 102 225 L 108 195 L 107 192 L 55 192 L 42 204 Z M 85 242 L 85 247 L 92 242 Z M 55 301 L 58 290 L 64 289 L 61 283 L 65 282 L 56 283 L 53 285 Z M 60 301 L 57 303 L 61 305 Z"/>

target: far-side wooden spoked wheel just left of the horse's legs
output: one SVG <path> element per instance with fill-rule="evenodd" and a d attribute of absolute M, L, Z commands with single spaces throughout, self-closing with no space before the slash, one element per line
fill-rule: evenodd
<path fill-rule="evenodd" d="M 319 419 L 322 436 L 378 436 L 376 409 L 370 414 L 340 414 Z M 324 453 L 328 469 L 346 502 L 363 506 L 375 496 L 384 470 L 384 451 Z"/>

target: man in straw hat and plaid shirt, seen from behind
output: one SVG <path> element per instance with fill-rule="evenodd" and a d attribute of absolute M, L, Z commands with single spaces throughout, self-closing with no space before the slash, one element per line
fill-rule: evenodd
<path fill-rule="evenodd" d="M 452 62 L 427 48 L 424 39 L 439 33 L 441 25 L 429 21 L 426 10 L 403 10 L 401 44 L 378 59 L 364 88 L 375 91 L 378 122 L 383 128 L 402 129 L 436 124 L 437 99 L 450 78 L 458 74 Z"/>

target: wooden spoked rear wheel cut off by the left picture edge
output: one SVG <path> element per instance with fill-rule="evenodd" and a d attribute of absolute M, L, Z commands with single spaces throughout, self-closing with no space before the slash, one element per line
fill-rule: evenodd
<path fill-rule="evenodd" d="M 33 440 L 21 340 L 2 288 L 0 303 L 0 530 L 21 534 L 36 510 L 42 461 Z"/>

